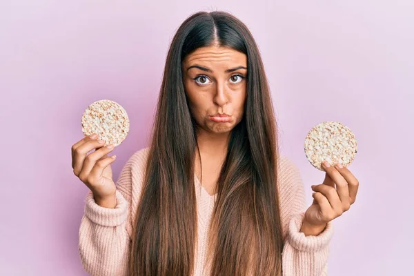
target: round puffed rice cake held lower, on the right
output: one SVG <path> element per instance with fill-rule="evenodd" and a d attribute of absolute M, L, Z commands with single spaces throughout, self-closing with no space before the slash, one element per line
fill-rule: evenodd
<path fill-rule="evenodd" d="M 357 140 L 353 132 L 337 121 L 324 121 L 314 126 L 305 138 L 305 155 L 318 170 L 325 171 L 322 161 L 331 166 L 344 167 L 352 163 L 357 154 Z"/>

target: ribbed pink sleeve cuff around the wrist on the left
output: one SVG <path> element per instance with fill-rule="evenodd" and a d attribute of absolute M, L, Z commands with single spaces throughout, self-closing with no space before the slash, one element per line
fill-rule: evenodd
<path fill-rule="evenodd" d="M 99 206 L 93 198 L 92 191 L 86 195 L 85 215 L 95 224 L 101 226 L 119 226 L 126 221 L 128 215 L 128 202 L 117 190 L 117 206 L 115 208 L 105 208 Z"/>

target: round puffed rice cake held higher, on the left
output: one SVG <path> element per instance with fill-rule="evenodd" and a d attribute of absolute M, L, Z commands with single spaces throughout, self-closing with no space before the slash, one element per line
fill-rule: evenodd
<path fill-rule="evenodd" d="M 83 134 L 88 136 L 96 133 L 98 139 L 105 141 L 103 146 L 121 144 L 128 135 L 129 127 L 126 110 L 115 101 L 108 99 L 95 101 L 83 112 Z"/>

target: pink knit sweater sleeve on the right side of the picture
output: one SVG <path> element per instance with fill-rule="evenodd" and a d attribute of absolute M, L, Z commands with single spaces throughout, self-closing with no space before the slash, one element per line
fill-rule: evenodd
<path fill-rule="evenodd" d="M 305 190 L 298 168 L 291 163 L 288 185 L 295 187 L 290 206 L 287 235 L 282 253 L 284 276 L 324 276 L 328 275 L 329 243 L 333 237 L 333 224 L 329 221 L 322 233 L 317 236 L 305 236 L 300 232 L 307 209 Z"/>

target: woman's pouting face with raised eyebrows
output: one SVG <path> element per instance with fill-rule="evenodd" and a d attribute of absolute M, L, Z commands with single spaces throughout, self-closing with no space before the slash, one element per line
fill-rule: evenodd
<path fill-rule="evenodd" d="M 202 130 L 230 132 L 244 113 L 247 57 L 218 46 L 198 48 L 183 61 L 190 112 Z"/>

